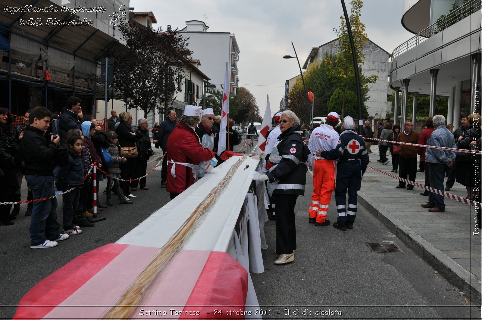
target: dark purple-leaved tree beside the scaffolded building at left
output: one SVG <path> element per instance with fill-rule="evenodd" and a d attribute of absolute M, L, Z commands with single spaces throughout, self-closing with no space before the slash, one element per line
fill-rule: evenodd
<path fill-rule="evenodd" d="M 128 108 L 141 108 L 144 117 L 154 108 L 160 113 L 174 101 L 177 80 L 185 74 L 191 52 L 177 30 L 162 32 L 134 23 L 118 26 L 126 50 L 113 52 L 114 87 Z"/>

